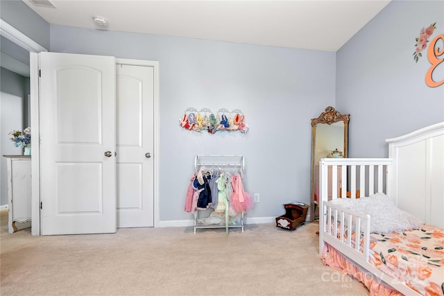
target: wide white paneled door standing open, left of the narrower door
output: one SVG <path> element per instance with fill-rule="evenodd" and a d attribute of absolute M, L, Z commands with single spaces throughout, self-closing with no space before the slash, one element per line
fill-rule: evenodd
<path fill-rule="evenodd" d="M 41 234 L 116 232 L 115 67 L 40 53 Z"/>

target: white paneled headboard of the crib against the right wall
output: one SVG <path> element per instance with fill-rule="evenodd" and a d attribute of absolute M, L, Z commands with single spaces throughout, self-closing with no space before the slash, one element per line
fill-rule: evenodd
<path fill-rule="evenodd" d="M 386 142 L 398 207 L 444 228 L 444 122 Z"/>

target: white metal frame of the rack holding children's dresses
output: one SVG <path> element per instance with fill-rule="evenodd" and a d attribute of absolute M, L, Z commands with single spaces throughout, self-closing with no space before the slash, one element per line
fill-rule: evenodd
<path fill-rule="evenodd" d="M 244 175 L 245 159 L 244 155 L 196 155 L 194 157 L 194 169 L 196 172 L 202 168 L 219 168 L 226 170 L 239 169 L 239 173 Z M 227 204 L 228 207 L 228 204 Z M 226 228 L 228 235 L 228 228 L 241 228 L 244 232 L 244 212 L 241 213 L 239 225 L 198 225 L 198 211 L 205 209 L 194 210 L 194 234 L 198 228 Z"/>

